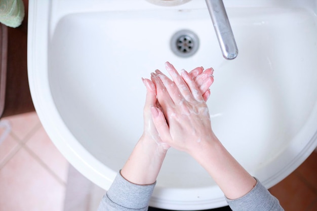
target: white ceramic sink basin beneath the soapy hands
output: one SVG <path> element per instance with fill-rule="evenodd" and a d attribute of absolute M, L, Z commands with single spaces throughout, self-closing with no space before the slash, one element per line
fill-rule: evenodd
<path fill-rule="evenodd" d="M 215 69 L 208 101 L 215 134 L 267 188 L 317 145 L 316 1 L 224 1 L 239 56 L 223 59 L 205 1 L 30 0 L 28 74 L 35 109 L 67 160 L 107 190 L 142 134 L 141 77 L 170 61 Z M 199 48 L 182 58 L 172 36 L 190 30 Z M 150 206 L 226 205 L 192 158 L 167 154 Z"/>

